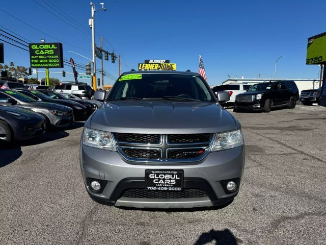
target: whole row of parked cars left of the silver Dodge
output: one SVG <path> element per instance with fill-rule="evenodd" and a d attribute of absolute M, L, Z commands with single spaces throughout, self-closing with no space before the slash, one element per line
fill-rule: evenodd
<path fill-rule="evenodd" d="M 67 128 L 86 120 L 101 105 L 46 89 L 0 89 L 0 144 L 29 139 L 50 128 Z"/>

